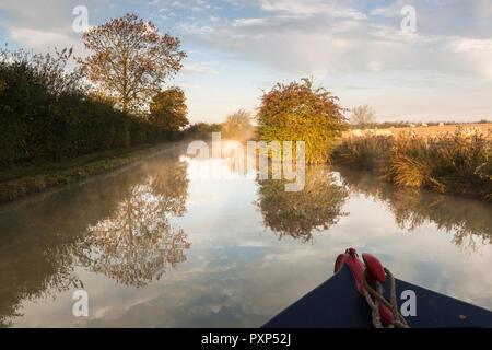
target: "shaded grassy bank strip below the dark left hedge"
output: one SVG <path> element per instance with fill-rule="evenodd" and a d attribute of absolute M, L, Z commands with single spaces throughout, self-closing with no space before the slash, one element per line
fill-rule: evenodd
<path fill-rule="evenodd" d="M 175 143 L 143 144 L 102 151 L 56 163 L 2 170 L 0 202 L 11 201 L 57 185 L 73 184 L 91 175 L 104 174 L 173 144 Z"/>

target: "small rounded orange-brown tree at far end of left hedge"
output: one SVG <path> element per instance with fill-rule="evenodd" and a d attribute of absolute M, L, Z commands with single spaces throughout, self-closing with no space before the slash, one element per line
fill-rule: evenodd
<path fill-rule="evenodd" d="M 189 122 L 185 92 L 177 86 L 157 93 L 149 109 L 151 121 L 166 130 L 179 131 Z"/>

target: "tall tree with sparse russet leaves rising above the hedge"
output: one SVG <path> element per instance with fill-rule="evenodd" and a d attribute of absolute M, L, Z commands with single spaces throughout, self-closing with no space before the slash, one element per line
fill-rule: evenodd
<path fill-rule="evenodd" d="M 125 112 L 148 103 L 186 57 L 177 37 L 159 33 L 136 14 L 93 27 L 82 39 L 91 54 L 78 62 L 95 89 L 114 97 Z"/>

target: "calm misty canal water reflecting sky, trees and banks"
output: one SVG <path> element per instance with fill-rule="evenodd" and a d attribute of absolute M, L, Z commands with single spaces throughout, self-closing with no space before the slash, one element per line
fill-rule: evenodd
<path fill-rule="evenodd" d="M 301 191 L 283 185 L 175 147 L 3 205 L 0 326 L 258 327 L 348 247 L 492 308 L 491 205 L 329 166 L 307 167 Z"/>

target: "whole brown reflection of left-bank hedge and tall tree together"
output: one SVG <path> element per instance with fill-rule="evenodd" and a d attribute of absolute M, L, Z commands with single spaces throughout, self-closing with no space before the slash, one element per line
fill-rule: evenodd
<path fill-rule="evenodd" d="M 77 266 L 143 287 L 185 261 L 187 164 L 178 154 L 0 211 L 0 326 L 30 300 L 83 288 Z"/>

